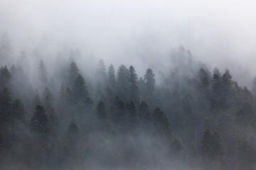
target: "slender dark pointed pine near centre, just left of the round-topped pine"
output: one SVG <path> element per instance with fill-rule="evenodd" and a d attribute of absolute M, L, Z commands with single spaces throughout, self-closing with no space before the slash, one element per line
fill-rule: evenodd
<path fill-rule="evenodd" d="M 129 83 L 130 83 L 129 98 L 132 101 L 134 101 L 134 103 L 139 104 L 138 77 L 133 66 L 129 67 Z"/>

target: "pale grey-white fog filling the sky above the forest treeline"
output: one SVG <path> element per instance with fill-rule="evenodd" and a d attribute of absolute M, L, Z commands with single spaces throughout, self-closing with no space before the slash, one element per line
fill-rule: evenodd
<path fill-rule="evenodd" d="M 107 65 L 133 64 L 139 74 L 141 61 L 164 64 L 182 45 L 210 69 L 228 67 L 250 86 L 255 16 L 254 0 L 0 0 L 0 33 L 9 33 L 15 56 L 36 47 L 51 54 L 47 59 L 78 47 Z"/>

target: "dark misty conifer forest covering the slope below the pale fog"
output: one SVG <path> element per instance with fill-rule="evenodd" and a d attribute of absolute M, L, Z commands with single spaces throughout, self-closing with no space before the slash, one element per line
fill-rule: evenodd
<path fill-rule="evenodd" d="M 141 76 L 31 51 L 1 36 L 0 169 L 256 169 L 256 80 L 241 87 L 183 47 Z"/>

